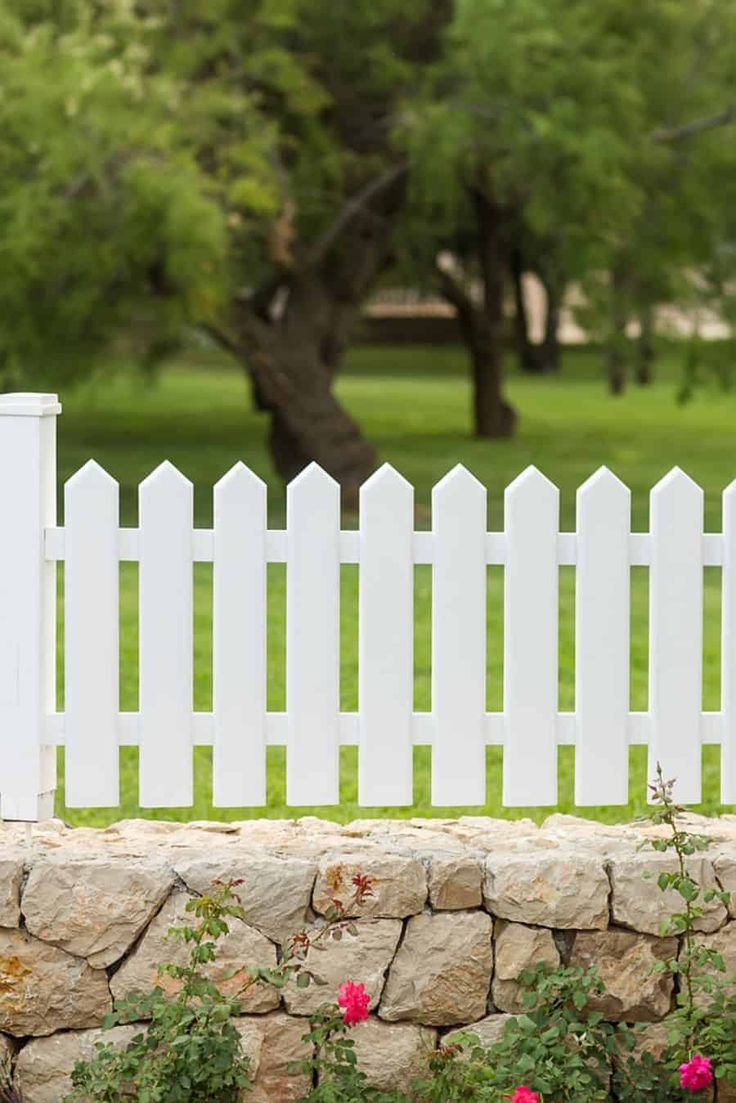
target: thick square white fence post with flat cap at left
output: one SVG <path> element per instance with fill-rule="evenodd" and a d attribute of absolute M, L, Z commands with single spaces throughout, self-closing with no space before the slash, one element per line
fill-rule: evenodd
<path fill-rule="evenodd" d="M 55 709 L 56 395 L 0 395 L 0 816 L 54 813 L 56 748 L 43 743 Z"/>

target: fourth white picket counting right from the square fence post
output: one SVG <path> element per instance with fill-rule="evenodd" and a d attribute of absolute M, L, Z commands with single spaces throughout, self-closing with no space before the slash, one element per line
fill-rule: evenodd
<path fill-rule="evenodd" d="M 340 486 L 310 463 L 287 489 L 286 800 L 340 800 Z"/>

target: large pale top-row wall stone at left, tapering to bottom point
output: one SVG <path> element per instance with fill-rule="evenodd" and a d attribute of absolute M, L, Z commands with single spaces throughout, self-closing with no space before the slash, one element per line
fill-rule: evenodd
<path fill-rule="evenodd" d="M 23 891 L 25 925 L 36 939 L 105 968 L 128 952 L 173 882 L 162 863 L 40 861 Z"/>

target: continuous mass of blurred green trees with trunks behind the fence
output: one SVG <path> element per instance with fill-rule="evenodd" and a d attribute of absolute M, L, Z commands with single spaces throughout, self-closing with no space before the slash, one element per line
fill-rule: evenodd
<path fill-rule="evenodd" d="M 280 473 L 354 486 L 375 454 L 333 379 L 405 249 L 508 433 L 522 271 L 551 312 L 585 289 L 612 382 L 632 314 L 727 299 L 735 31 L 736 0 L 0 0 L 0 373 L 200 330 Z"/>

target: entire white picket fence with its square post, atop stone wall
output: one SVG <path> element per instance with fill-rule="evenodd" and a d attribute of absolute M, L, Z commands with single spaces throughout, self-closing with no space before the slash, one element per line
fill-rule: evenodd
<path fill-rule="evenodd" d="M 55 395 L 0 396 L 0 814 L 52 814 L 56 747 L 66 802 L 119 803 L 118 748 L 140 749 L 146 807 L 193 801 L 193 746 L 213 747 L 214 803 L 264 805 L 266 748 L 287 747 L 290 805 L 339 802 L 339 749 L 359 747 L 363 805 L 412 803 L 413 748 L 431 747 L 435 805 L 486 800 L 486 748 L 503 747 L 503 802 L 554 805 L 557 747 L 575 746 L 579 805 L 625 804 L 629 746 L 649 746 L 679 796 L 701 796 L 703 743 L 722 748 L 736 802 L 736 482 L 723 533 L 703 533 L 703 492 L 674 469 L 651 493 L 649 533 L 601 468 L 558 532 L 558 491 L 529 468 L 487 531 L 487 491 L 462 467 L 434 488 L 431 531 L 391 467 L 362 488 L 360 528 L 340 531 L 340 492 L 318 467 L 288 488 L 270 531 L 266 486 L 243 464 L 214 488 L 214 526 L 194 529 L 192 485 L 163 463 L 120 528 L 117 483 L 90 461 L 56 525 Z M 119 563 L 139 564 L 139 711 L 119 708 Z M 65 711 L 55 711 L 55 564 L 64 563 Z M 213 565 L 213 710 L 192 706 L 193 563 Z M 266 705 L 268 563 L 287 570 L 287 711 Z M 340 565 L 360 568 L 358 713 L 340 711 Z M 431 565 L 431 711 L 414 711 L 414 567 Z M 503 711 L 486 710 L 487 566 L 504 568 Z M 574 713 L 558 710 L 558 567 L 576 568 Z M 630 568 L 650 574 L 649 710 L 629 709 Z M 703 568 L 723 570 L 722 709 L 702 710 Z"/>

